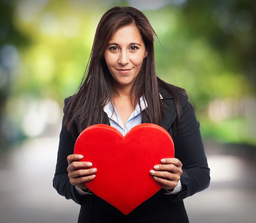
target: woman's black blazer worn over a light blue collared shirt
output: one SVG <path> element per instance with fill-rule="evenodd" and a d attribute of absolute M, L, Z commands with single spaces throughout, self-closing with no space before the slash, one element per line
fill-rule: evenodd
<path fill-rule="evenodd" d="M 165 100 L 168 104 L 168 106 L 164 107 L 162 127 L 174 139 L 173 123 L 176 118 L 174 99 L 165 90 L 160 90 L 160 93 L 163 96 L 162 100 Z M 73 154 L 75 140 L 67 132 L 65 126 L 62 126 L 53 185 L 59 194 L 81 205 L 79 223 L 189 222 L 183 199 L 209 186 L 210 169 L 207 164 L 199 123 L 195 118 L 193 107 L 184 96 L 179 95 L 179 97 L 182 105 L 182 116 L 179 132 L 174 139 L 174 146 L 175 157 L 183 164 L 183 174 L 181 175 L 182 191 L 178 194 L 165 194 L 166 191 L 161 189 L 128 215 L 122 214 L 115 207 L 94 194 L 79 195 L 75 187 L 70 184 L 67 176 L 67 156 Z M 65 105 L 67 101 L 68 98 L 65 99 Z M 107 114 L 105 124 L 109 124 Z M 124 193 L 129 192 L 124 191 Z"/>

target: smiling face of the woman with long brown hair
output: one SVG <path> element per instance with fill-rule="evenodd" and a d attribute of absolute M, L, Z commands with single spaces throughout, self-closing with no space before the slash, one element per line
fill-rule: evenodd
<path fill-rule="evenodd" d="M 135 25 L 120 28 L 108 42 L 104 57 L 116 87 L 132 87 L 147 51 Z"/>

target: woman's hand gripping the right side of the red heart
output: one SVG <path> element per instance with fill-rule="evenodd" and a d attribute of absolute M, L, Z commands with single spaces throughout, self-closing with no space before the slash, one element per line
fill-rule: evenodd
<path fill-rule="evenodd" d="M 172 191 L 177 186 L 182 174 L 182 163 L 177 158 L 163 158 L 161 164 L 150 170 L 155 181 L 162 183 L 163 188 Z"/>

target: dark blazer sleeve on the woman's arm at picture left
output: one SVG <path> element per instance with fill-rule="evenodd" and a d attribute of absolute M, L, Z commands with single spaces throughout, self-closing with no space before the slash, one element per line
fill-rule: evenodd
<path fill-rule="evenodd" d="M 67 104 L 68 99 L 65 99 L 65 106 Z M 64 106 L 64 107 L 65 107 Z M 65 119 L 65 114 L 63 116 L 63 123 Z M 72 199 L 76 203 L 82 205 L 85 203 L 86 199 L 88 199 L 90 194 L 87 195 L 79 195 L 76 192 L 76 188 L 74 185 L 70 183 L 70 180 L 67 176 L 67 156 L 74 153 L 74 145 L 75 140 L 67 131 L 66 127 L 62 123 L 62 129 L 60 133 L 59 147 L 58 147 L 58 158 L 56 164 L 56 171 L 53 178 L 53 186 L 57 190 L 59 194 L 65 196 L 67 199 Z"/>

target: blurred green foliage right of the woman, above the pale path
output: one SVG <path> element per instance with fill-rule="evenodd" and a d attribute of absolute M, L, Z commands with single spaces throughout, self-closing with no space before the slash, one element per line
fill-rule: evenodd
<path fill-rule="evenodd" d="M 145 11 L 162 44 L 157 74 L 188 91 L 204 140 L 256 145 L 255 1 L 170 2 Z"/>

